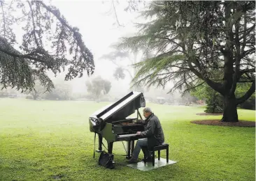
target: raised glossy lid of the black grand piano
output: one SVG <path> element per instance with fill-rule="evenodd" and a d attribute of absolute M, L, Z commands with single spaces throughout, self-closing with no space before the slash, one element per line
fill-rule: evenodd
<path fill-rule="evenodd" d="M 115 120 L 127 118 L 127 116 L 134 113 L 140 107 L 145 107 L 143 93 L 131 92 L 117 102 L 95 112 L 94 116 L 101 118 L 106 123 L 111 123 Z"/>

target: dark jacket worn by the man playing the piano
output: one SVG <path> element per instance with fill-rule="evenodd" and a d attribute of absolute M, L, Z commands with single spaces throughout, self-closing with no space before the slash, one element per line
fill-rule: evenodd
<path fill-rule="evenodd" d="M 141 136 L 143 138 L 148 138 L 148 149 L 152 150 L 152 147 L 155 145 L 161 145 L 164 143 L 164 132 L 159 119 L 154 115 L 154 113 L 141 123 L 145 125 L 145 131 L 141 132 Z"/>

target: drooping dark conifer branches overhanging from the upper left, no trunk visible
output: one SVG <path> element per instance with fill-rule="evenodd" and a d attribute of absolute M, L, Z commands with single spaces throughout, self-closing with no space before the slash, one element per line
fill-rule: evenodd
<path fill-rule="evenodd" d="M 31 91 L 38 79 L 50 91 L 54 84 L 47 75 L 49 70 L 56 75 L 68 68 L 65 80 L 82 77 L 85 70 L 88 75 L 93 74 L 93 55 L 79 29 L 71 26 L 55 6 L 34 0 L 8 3 L 1 0 L 0 6 L 0 84 L 3 88 L 11 86 Z M 14 25 L 21 26 L 24 32 L 22 42 L 16 40 Z"/>

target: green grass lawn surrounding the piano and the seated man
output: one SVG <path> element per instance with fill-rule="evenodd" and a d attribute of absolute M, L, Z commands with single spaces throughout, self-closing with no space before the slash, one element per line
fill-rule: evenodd
<path fill-rule="evenodd" d="M 0 180 L 255 180 L 255 128 L 190 123 L 221 118 L 197 116 L 203 107 L 147 104 L 178 163 L 138 171 L 119 164 L 125 150 L 115 142 L 115 169 L 97 166 L 88 117 L 106 104 L 0 99 Z M 239 119 L 254 121 L 255 111 L 239 109 Z"/>

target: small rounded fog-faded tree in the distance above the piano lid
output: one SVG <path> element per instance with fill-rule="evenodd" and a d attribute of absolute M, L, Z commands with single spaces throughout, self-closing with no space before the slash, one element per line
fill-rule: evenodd
<path fill-rule="evenodd" d="M 86 81 L 85 85 L 87 91 L 94 96 L 94 100 L 99 100 L 101 94 L 108 94 L 111 90 L 111 82 L 108 80 L 102 79 L 100 76 L 95 77 L 92 81 Z"/>

